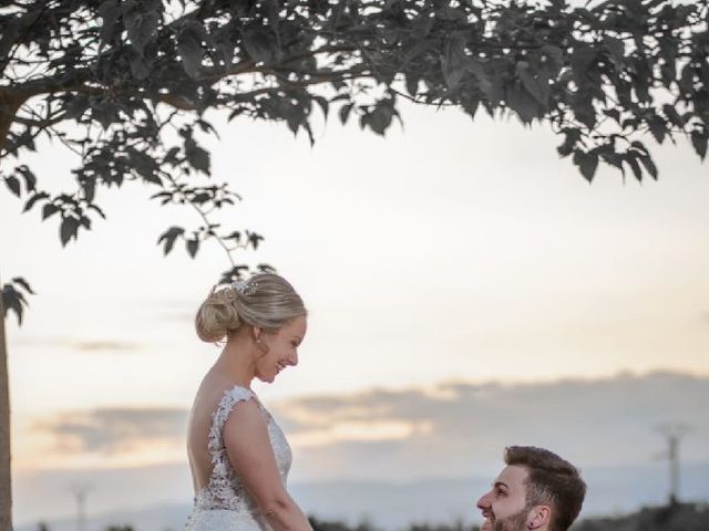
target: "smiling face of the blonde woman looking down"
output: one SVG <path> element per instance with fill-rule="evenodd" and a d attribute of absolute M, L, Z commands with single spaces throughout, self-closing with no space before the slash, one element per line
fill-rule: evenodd
<path fill-rule="evenodd" d="M 256 377 L 271 383 L 284 368 L 297 365 L 298 346 L 306 336 L 306 317 L 299 316 L 276 333 L 261 332 L 257 346 L 266 353 L 256 360 Z"/>

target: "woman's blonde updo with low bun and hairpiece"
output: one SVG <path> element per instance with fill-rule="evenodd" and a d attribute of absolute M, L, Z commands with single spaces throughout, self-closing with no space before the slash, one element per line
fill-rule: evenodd
<path fill-rule="evenodd" d="M 300 295 L 275 273 L 259 273 L 245 282 L 215 287 L 195 316 L 202 341 L 215 343 L 247 324 L 276 332 L 290 321 L 307 315 Z"/>

